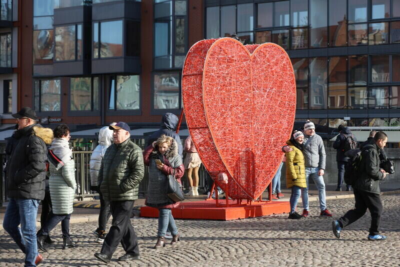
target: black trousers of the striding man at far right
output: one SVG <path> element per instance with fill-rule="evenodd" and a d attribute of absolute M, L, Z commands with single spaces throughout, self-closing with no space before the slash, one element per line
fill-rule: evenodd
<path fill-rule="evenodd" d="M 369 209 L 369 212 L 371 213 L 371 226 L 369 228 L 369 234 L 378 234 L 380 217 L 383 210 L 382 202 L 380 201 L 380 195 L 354 189 L 354 199 L 355 208 L 350 209 L 346 212 L 346 214 L 338 219 L 339 225 L 341 227 L 345 227 L 348 224 L 353 223 L 365 214 L 366 209 Z"/>

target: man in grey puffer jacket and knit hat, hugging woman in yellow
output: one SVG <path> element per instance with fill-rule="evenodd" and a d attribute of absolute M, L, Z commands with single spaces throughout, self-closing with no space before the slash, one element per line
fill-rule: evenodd
<path fill-rule="evenodd" d="M 307 120 L 304 124 L 304 163 L 305 163 L 305 180 L 307 187 L 301 188 L 301 200 L 303 203 L 302 216 L 308 216 L 308 179 L 311 177 L 314 180 L 316 188 L 318 189 L 319 209 L 321 210 L 320 216 L 331 217 L 332 214 L 326 209 L 326 196 L 325 196 L 325 183 L 322 175 L 325 170 L 325 148 L 323 146 L 322 138 L 315 133 L 315 125 Z M 283 148 L 285 152 L 291 149 L 287 146 Z"/>

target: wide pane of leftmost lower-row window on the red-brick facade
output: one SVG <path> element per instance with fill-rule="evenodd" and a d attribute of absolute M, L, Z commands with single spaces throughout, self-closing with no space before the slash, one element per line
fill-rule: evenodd
<path fill-rule="evenodd" d="M 61 110 L 60 80 L 41 81 L 40 111 Z"/>

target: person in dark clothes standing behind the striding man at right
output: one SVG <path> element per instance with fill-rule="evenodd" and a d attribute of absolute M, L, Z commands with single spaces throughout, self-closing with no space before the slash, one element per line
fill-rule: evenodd
<path fill-rule="evenodd" d="M 344 155 L 344 144 L 348 136 L 352 136 L 354 141 L 357 141 L 354 135 L 351 133 L 350 129 L 339 125 L 337 128 L 339 130 L 339 135 L 336 137 L 336 141 L 333 143 L 333 148 L 336 149 L 336 161 L 337 161 L 337 188 L 336 191 L 341 191 L 341 185 L 344 180 L 344 166 L 348 161 L 348 157 Z M 346 185 L 346 191 L 350 191 L 351 187 Z"/>

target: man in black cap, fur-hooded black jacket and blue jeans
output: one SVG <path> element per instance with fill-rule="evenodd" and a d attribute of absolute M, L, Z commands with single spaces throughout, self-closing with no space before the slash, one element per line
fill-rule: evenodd
<path fill-rule="evenodd" d="M 12 116 L 17 120 L 18 131 L 7 163 L 9 202 L 3 228 L 25 253 L 25 266 L 35 266 L 43 259 L 37 253 L 36 215 L 39 200 L 44 197 L 46 143 L 51 143 L 52 131 L 36 126 L 36 113 L 30 108 L 22 108 Z"/>

